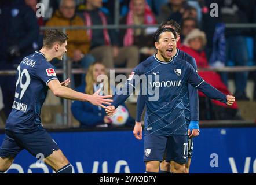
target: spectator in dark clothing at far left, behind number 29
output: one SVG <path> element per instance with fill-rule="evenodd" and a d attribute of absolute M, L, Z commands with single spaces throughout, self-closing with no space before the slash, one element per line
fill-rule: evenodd
<path fill-rule="evenodd" d="M 20 61 L 34 52 L 39 27 L 35 13 L 24 1 L 4 0 L 0 6 L 0 69 L 16 70 Z M 16 76 L 0 77 L 6 116 L 12 109 L 15 85 Z"/>

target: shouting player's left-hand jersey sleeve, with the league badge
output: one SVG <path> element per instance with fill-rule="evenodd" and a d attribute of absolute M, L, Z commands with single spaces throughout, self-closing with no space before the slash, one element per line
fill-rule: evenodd
<path fill-rule="evenodd" d="M 143 73 L 144 69 L 141 64 L 137 65 L 133 69 L 133 72 L 129 75 L 126 83 L 116 92 L 116 95 L 113 98 L 112 105 L 117 108 L 119 105 L 124 103 L 126 99 L 133 93 L 135 88 L 140 84 L 140 75 Z"/>

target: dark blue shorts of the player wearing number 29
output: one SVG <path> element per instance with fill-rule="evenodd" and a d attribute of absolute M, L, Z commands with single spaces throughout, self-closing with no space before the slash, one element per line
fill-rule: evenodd
<path fill-rule="evenodd" d="M 35 157 L 37 154 L 43 154 L 46 158 L 53 151 L 60 149 L 44 128 L 38 128 L 26 133 L 6 130 L 5 133 L 5 139 L 3 139 L 0 147 L 0 157 L 2 158 L 14 158 L 23 149 L 26 149 Z"/>

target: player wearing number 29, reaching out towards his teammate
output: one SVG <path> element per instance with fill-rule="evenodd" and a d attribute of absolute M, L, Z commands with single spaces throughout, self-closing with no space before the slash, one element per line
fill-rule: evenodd
<path fill-rule="evenodd" d="M 41 108 L 48 88 L 57 97 L 78 101 L 89 101 L 93 105 L 105 108 L 111 105 L 112 96 L 92 95 L 76 92 L 65 87 L 67 79 L 60 83 L 50 61 L 53 58 L 62 60 L 67 52 L 68 37 L 57 29 L 46 32 L 43 47 L 25 57 L 17 67 L 16 93 L 5 125 L 5 139 L 0 147 L 0 173 L 5 172 L 16 155 L 26 149 L 33 156 L 43 155 L 44 162 L 56 173 L 72 173 L 72 166 L 64 156 L 57 143 L 46 132 L 40 119 Z"/>

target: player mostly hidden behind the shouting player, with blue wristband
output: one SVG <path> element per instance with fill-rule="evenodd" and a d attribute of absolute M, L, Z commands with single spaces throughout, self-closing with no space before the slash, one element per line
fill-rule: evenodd
<path fill-rule="evenodd" d="M 180 40 L 180 32 L 181 28 L 180 25 L 175 20 L 169 20 L 164 21 L 162 24 L 160 24 L 159 28 L 173 28 L 174 31 L 177 34 L 177 43 Z M 182 50 L 177 49 L 173 51 L 174 58 L 178 57 L 182 60 L 185 60 L 189 62 L 193 66 L 195 70 L 197 70 L 196 61 L 195 58 L 190 56 L 189 54 L 185 53 Z M 142 103 L 142 105 L 140 105 Z M 199 135 L 199 103 L 198 103 L 198 90 L 191 86 L 191 84 L 188 84 L 188 94 L 183 99 L 184 103 L 184 114 L 186 119 L 186 124 L 188 126 L 188 162 L 186 162 L 186 170 L 185 173 L 189 173 L 189 167 L 191 164 L 191 158 L 193 154 L 193 137 L 196 137 Z M 138 95 L 137 100 L 137 108 L 145 106 L 145 98 L 142 95 Z M 141 115 L 142 113 L 139 113 Z M 140 136 L 142 133 L 142 128 L 140 127 L 141 120 L 136 120 L 136 125 L 138 127 L 134 127 L 134 132 L 136 133 L 134 136 L 138 138 L 138 135 Z M 170 162 L 166 162 L 163 160 L 160 164 L 160 173 L 170 173 L 171 166 Z"/>

